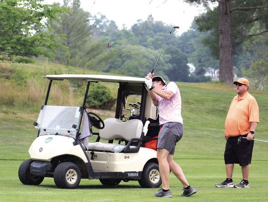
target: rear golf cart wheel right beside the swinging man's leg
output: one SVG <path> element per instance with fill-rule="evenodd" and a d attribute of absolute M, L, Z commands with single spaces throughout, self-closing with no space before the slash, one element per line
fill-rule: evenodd
<path fill-rule="evenodd" d="M 158 188 L 162 184 L 159 172 L 159 166 L 157 163 L 146 163 L 141 179 L 138 181 L 139 185 L 143 188 Z"/>

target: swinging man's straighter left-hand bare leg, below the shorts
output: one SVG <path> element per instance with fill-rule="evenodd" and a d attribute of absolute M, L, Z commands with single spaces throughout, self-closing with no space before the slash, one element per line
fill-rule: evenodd
<path fill-rule="evenodd" d="M 157 160 L 159 163 L 159 172 L 162 180 L 162 188 L 169 190 L 169 165 L 167 156 L 169 151 L 166 149 L 157 149 Z"/>

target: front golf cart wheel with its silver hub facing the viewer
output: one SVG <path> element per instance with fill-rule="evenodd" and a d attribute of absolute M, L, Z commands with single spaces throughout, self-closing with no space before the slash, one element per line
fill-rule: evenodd
<path fill-rule="evenodd" d="M 54 182 L 60 189 L 75 189 L 80 180 L 80 169 L 72 162 L 60 163 L 54 171 Z"/>

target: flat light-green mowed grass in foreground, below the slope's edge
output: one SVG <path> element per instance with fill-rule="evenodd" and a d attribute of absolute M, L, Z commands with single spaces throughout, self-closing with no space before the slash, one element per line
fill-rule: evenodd
<path fill-rule="evenodd" d="M 173 174 L 170 174 L 170 187 L 173 198 L 168 201 L 181 202 L 265 202 L 268 197 L 267 161 L 252 162 L 250 189 L 216 188 L 224 178 L 222 159 L 175 159 L 183 168 L 189 183 L 197 190 L 191 198 L 182 198 L 182 186 Z M 117 188 L 105 188 L 98 180 L 82 179 L 75 190 L 58 189 L 52 178 L 45 178 L 39 186 L 22 185 L 17 177 L 21 161 L 1 160 L 0 192 L 1 202 L 10 201 L 57 201 L 57 202 L 156 202 L 153 197 L 157 189 L 140 188 L 137 182 L 122 182 Z M 235 167 L 234 182 L 240 182 L 240 168 Z"/>

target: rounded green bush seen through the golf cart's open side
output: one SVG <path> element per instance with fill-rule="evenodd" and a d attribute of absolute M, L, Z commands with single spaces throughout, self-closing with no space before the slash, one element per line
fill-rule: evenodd
<path fill-rule="evenodd" d="M 116 99 L 113 98 L 108 87 L 92 83 L 89 88 L 86 105 L 89 108 L 111 110 Z"/>

